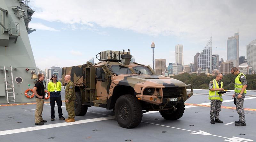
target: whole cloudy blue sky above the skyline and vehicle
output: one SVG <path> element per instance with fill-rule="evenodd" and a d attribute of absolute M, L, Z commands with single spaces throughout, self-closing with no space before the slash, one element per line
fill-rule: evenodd
<path fill-rule="evenodd" d="M 160 3 L 161 2 L 161 3 Z M 33 0 L 29 34 L 36 65 L 85 64 L 100 51 L 131 50 L 135 61 L 175 62 L 175 45 L 184 46 L 184 65 L 194 62 L 212 36 L 212 53 L 227 59 L 227 38 L 239 29 L 240 56 L 256 39 L 255 1 L 98 1 Z M 254 17 L 254 18 L 253 18 Z M 216 48 L 217 47 L 217 48 Z M 42 51 L 44 54 L 42 54 Z M 246 58 L 246 57 L 245 57 Z"/>

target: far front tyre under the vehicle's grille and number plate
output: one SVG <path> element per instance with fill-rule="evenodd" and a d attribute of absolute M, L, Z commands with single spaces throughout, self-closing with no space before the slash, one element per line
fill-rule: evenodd
<path fill-rule="evenodd" d="M 160 114 L 162 115 L 162 117 L 164 119 L 167 119 L 167 120 L 177 120 L 179 119 L 183 114 L 184 114 L 184 111 L 185 111 L 185 104 L 184 103 L 178 103 L 176 105 L 176 110 L 173 109 L 168 109 L 168 110 L 162 110 L 162 111 L 159 111 Z"/>

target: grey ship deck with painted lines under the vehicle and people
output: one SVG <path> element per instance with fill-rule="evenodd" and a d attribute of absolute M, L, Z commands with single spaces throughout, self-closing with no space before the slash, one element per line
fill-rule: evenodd
<path fill-rule="evenodd" d="M 64 91 L 61 93 L 63 99 Z M 195 90 L 194 93 L 185 103 L 202 104 L 210 102 L 205 91 Z M 224 95 L 223 100 L 231 100 L 232 96 L 230 95 L 232 94 L 231 92 Z M 246 96 L 246 98 L 252 97 L 253 99 L 244 101 L 245 108 L 256 108 L 256 92 L 250 92 Z M 67 118 L 68 114 L 64 102 L 62 106 L 63 117 Z M 232 101 L 224 102 L 222 106 L 235 107 Z M 159 112 L 143 114 L 142 122 L 138 127 L 125 129 L 117 124 L 115 117 L 111 117 L 114 116 L 112 110 L 93 106 L 88 108 L 86 115 L 76 116 L 76 122 L 63 126 L 67 123 L 58 119 L 57 106 L 55 106 L 56 119 L 53 122 L 50 121 L 50 104 L 44 104 L 42 114 L 44 120 L 48 122 L 38 126 L 35 125 L 35 110 L 33 110 L 35 108 L 35 104 L 0 106 L 0 142 L 217 142 L 224 140 L 235 142 L 237 139 L 232 139 L 232 137 L 246 138 L 247 140 L 240 140 L 246 142 L 256 140 L 255 110 L 245 111 L 247 124 L 245 127 L 236 127 L 234 123 L 225 125 L 239 120 L 234 109 L 222 108 L 220 120 L 224 123 L 213 125 L 210 123 L 210 107 L 196 106 L 186 108 L 184 115 L 177 121 L 164 120 Z M 101 118 L 107 119 L 101 120 Z M 80 123 L 76 124 L 78 122 Z M 199 131 L 201 131 L 201 134 L 195 134 Z"/>

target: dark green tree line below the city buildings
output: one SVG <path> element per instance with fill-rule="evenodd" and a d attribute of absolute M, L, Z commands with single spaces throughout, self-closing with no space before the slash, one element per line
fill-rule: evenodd
<path fill-rule="evenodd" d="M 247 79 L 247 88 L 246 90 L 256 90 L 256 74 L 252 75 L 245 75 Z M 171 76 L 174 79 L 178 79 L 185 84 L 192 84 L 193 89 L 209 89 L 209 83 L 211 80 L 215 79 L 216 76 L 206 74 L 188 74 L 183 73 L 180 75 Z M 223 89 L 226 90 L 234 90 L 234 83 L 235 83 L 236 76 L 233 74 L 223 75 L 222 82 L 223 82 Z"/>

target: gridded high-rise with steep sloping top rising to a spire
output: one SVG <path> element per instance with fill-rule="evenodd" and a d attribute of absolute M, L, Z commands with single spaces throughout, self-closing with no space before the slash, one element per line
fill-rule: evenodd
<path fill-rule="evenodd" d="M 210 37 L 210 40 L 198 56 L 197 64 L 197 68 L 200 67 L 202 70 L 209 68 L 210 73 L 212 72 L 212 37 Z"/>

